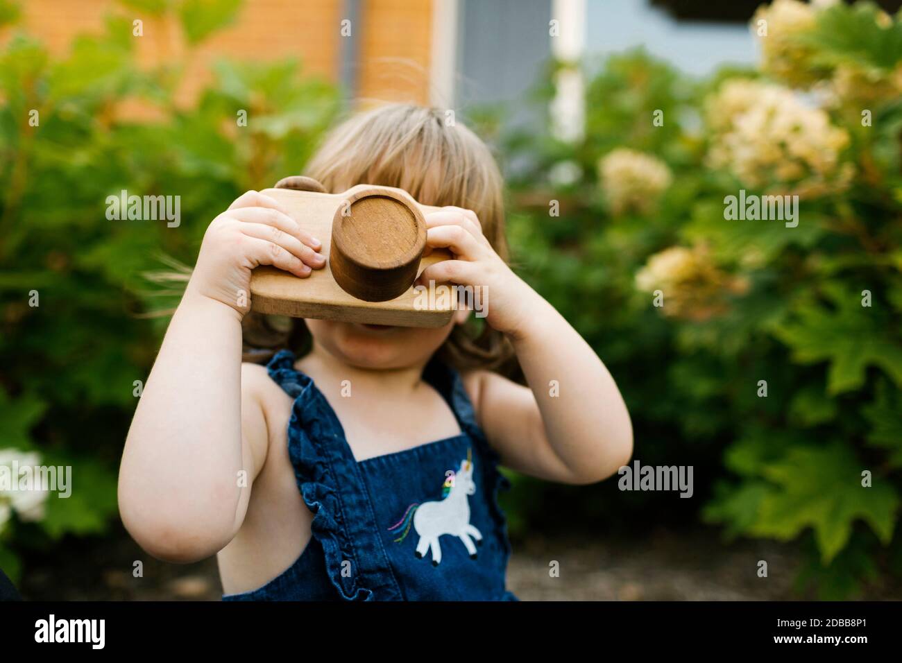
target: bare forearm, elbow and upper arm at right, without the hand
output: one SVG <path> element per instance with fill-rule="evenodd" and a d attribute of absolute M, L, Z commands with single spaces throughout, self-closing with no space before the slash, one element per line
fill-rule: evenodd
<path fill-rule="evenodd" d="M 537 309 L 534 325 L 511 337 L 529 388 L 480 371 L 467 391 L 504 465 L 561 483 L 601 481 L 630 459 L 629 412 L 592 348 L 544 299 Z"/>

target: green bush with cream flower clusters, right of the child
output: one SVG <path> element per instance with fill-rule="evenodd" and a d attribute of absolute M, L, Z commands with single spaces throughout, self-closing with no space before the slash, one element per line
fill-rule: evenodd
<path fill-rule="evenodd" d="M 786 0 L 761 19 L 759 70 L 622 54 L 589 77 L 583 139 L 509 137 L 535 161 L 512 243 L 621 384 L 634 457 L 695 465 L 702 520 L 810 543 L 799 586 L 848 596 L 902 570 L 902 23 Z M 797 226 L 728 220 L 740 189 L 799 195 Z M 672 497 L 592 499 L 650 525 Z"/>

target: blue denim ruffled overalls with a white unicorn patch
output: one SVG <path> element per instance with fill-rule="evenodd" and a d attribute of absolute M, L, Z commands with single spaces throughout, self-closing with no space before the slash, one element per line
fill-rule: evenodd
<path fill-rule="evenodd" d="M 357 462 L 326 397 L 282 350 L 267 365 L 294 399 L 288 428 L 298 489 L 313 512 L 298 560 L 262 587 L 224 601 L 516 601 L 496 501 L 510 486 L 476 424 L 460 375 L 423 371 L 461 432 Z"/>

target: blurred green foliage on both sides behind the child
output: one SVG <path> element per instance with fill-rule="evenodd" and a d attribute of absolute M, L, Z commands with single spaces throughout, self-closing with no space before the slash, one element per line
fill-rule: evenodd
<path fill-rule="evenodd" d="M 238 3 L 124 5 L 177 13 L 197 44 Z M 30 549 L 116 518 L 134 382 L 165 327 L 143 315 L 177 297 L 144 275 L 166 256 L 191 264 L 232 199 L 302 170 L 341 107 L 296 62 L 227 61 L 181 107 L 179 63 L 138 67 L 129 20 L 56 60 L 17 31 L 15 6 L 0 0 L 13 33 L 0 52 L 0 450 L 73 465 L 78 488 L 37 511 L 0 497 L 14 577 Z M 642 51 L 550 66 L 532 100 L 545 108 L 557 73 L 584 69 L 575 141 L 498 130 L 503 109 L 471 114 L 502 163 L 527 164 L 509 177 L 514 260 L 621 385 L 634 457 L 695 468 L 690 500 L 624 493 L 618 477 L 515 475 L 504 501 L 515 536 L 706 523 L 727 540 L 797 541 L 810 553 L 799 591 L 851 597 L 902 576 L 902 22 L 792 0 L 760 21 L 758 69 L 692 79 Z M 122 189 L 178 192 L 180 226 L 106 220 Z M 726 220 L 740 189 L 799 195 L 798 226 Z"/>

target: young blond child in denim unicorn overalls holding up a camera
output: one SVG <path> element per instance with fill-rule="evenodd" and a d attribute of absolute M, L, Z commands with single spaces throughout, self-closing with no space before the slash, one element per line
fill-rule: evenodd
<path fill-rule="evenodd" d="M 515 599 L 498 464 L 561 483 L 613 474 L 632 451 L 620 392 L 505 263 L 501 175 L 464 126 L 383 106 L 339 125 L 307 174 L 442 207 L 427 247 L 454 257 L 419 281 L 488 293 L 483 334 L 467 310 L 440 328 L 296 320 L 266 367 L 243 364 L 251 270 L 305 278 L 326 263 L 316 237 L 248 191 L 207 228 L 135 411 L 125 527 L 154 557 L 216 554 L 226 600 Z M 486 370 L 505 347 L 529 388 Z"/>

